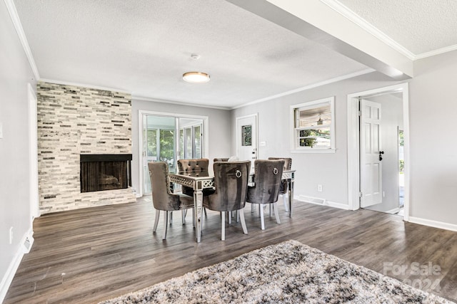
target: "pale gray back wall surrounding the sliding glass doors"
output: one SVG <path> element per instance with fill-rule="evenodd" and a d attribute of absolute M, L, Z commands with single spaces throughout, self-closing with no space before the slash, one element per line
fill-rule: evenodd
<path fill-rule="evenodd" d="M 212 159 L 215 157 L 230 157 L 231 152 L 231 120 L 229 110 L 214 108 L 192 107 L 188 105 L 175 105 L 170 103 L 157 103 L 154 101 L 136 100 L 132 98 L 132 187 L 139 191 L 139 133 L 138 133 L 138 112 L 139 110 L 174 113 L 176 115 L 199 115 L 208 116 L 209 134 L 209 155 L 206 155 L 212 166 Z"/>

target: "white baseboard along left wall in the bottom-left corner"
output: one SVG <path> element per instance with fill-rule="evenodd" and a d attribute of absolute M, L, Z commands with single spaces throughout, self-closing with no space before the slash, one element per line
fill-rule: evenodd
<path fill-rule="evenodd" d="M 9 267 L 6 270 L 4 277 L 1 279 L 0 282 L 0 303 L 3 303 L 3 300 L 8 292 L 9 285 L 13 281 L 14 275 L 16 274 L 17 268 L 21 264 L 22 258 L 24 257 L 25 253 L 29 253 L 31 246 L 34 243 L 34 231 L 30 229 L 29 231 L 24 234 L 21 239 L 21 246 L 19 246 L 14 258 L 12 259 L 11 263 L 9 263 Z"/>

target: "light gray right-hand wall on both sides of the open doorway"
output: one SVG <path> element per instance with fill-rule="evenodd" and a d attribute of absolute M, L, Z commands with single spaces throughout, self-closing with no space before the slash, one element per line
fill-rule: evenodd
<path fill-rule="evenodd" d="M 410 221 L 457 230 L 457 51 L 415 62 L 409 80 L 411 153 Z M 258 112 L 260 158 L 292 157 L 297 170 L 295 195 L 321 197 L 348 204 L 347 95 L 394 85 L 398 81 L 370 73 L 232 111 L 236 117 Z M 291 154 L 289 107 L 335 96 L 336 153 Z M 232 127 L 233 128 L 233 127 Z M 233 133 L 234 134 L 234 133 Z M 232 153 L 236 142 L 232 137 Z M 323 192 L 317 192 L 317 184 Z"/>

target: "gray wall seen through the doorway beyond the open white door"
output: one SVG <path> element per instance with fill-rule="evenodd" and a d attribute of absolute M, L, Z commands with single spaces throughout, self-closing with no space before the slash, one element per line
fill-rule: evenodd
<path fill-rule="evenodd" d="M 374 211 L 398 208 L 398 127 L 403 129 L 403 97 L 401 93 L 366 98 L 381 103 L 381 145 L 383 154 L 383 202 L 368 207 Z"/>

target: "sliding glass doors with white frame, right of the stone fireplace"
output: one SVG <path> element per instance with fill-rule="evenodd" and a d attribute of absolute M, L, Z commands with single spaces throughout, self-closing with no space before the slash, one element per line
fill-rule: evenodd
<path fill-rule="evenodd" d="M 178 159 L 208 155 L 208 117 L 139 111 L 140 194 L 151 194 L 148 162 L 167 162 L 176 172 Z"/>

